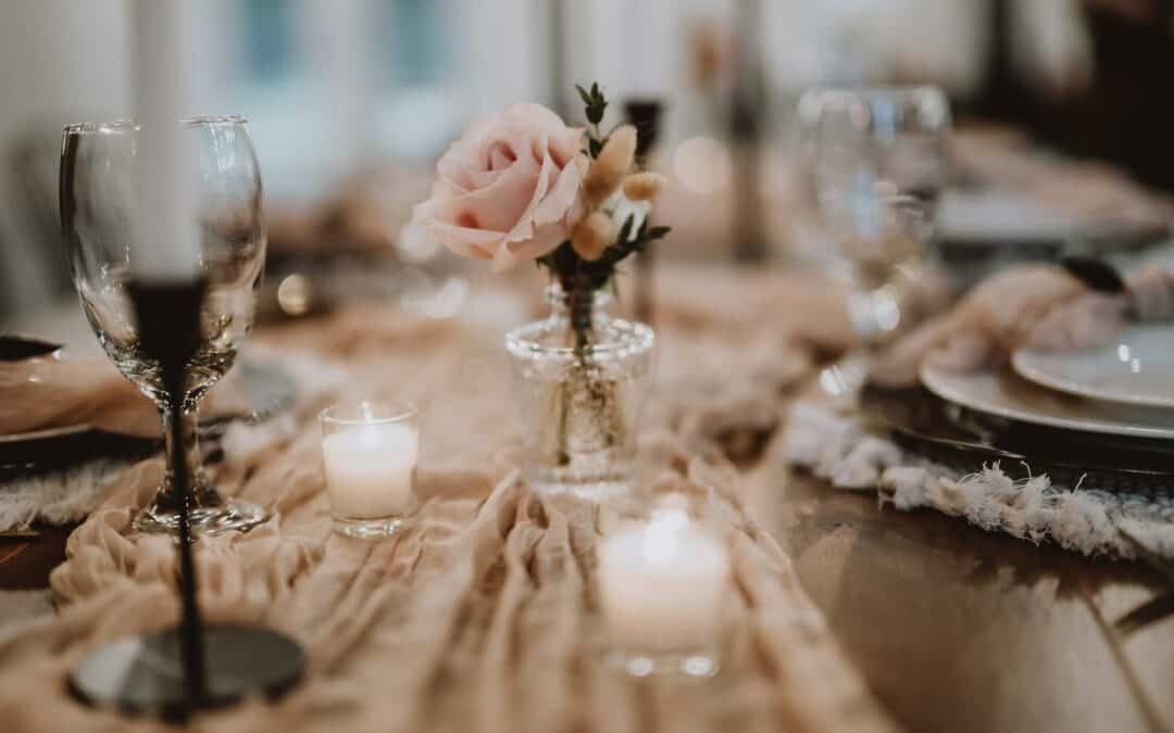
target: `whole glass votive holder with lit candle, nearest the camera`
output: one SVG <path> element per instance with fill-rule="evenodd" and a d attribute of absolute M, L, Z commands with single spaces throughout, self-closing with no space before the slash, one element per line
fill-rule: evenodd
<path fill-rule="evenodd" d="M 729 554 L 683 497 L 603 538 L 598 555 L 608 666 L 640 678 L 716 674 Z"/>

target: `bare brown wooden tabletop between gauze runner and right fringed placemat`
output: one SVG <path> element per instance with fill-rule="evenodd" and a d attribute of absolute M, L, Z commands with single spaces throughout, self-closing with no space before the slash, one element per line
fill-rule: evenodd
<path fill-rule="evenodd" d="M 880 703 L 910 731 L 1174 729 L 1174 618 L 1120 638 L 1158 573 L 879 509 L 777 459 L 755 503 Z"/>

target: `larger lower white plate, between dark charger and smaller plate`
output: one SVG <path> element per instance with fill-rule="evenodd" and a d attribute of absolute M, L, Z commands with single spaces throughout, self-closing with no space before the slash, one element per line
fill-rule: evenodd
<path fill-rule="evenodd" d="M 953 372 L 926 365 L 922 384 L 943 400 L 1008 420 L 1067 430 L 1174 440 L 1174 410 L 1045 389 L 1010 369 Z"/>

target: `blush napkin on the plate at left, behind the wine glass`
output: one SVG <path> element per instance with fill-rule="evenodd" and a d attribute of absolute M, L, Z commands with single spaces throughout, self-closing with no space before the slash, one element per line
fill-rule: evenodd
<path fill-rule="evenodd" d="M 238 387 L 217 386 L 204 414 L 244 412 Z M 0 361 L 0 435 L 89 425 L 112 433 L 154 437 L 158 410 L 104 359 L 55 352 Z"/>

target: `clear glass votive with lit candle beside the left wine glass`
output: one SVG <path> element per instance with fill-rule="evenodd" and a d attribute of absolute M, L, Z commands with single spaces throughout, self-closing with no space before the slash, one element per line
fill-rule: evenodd
<path fill-rule="evenodd" d="M 322 462 L 335 531 L 393 535 L 413 503 L 420 429 L 407 402 L 358 400 L 322 412 Z"/>

